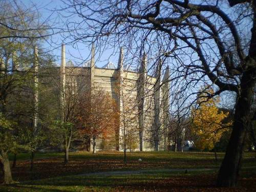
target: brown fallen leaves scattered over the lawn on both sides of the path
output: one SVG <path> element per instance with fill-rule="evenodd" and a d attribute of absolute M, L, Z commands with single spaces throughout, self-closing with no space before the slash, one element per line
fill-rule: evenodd
<path fill-rule="evenodd" d="M 188 173 L 179 173 L 175 176 L 165 175 L 145 175 L 142 179 L 131 176 L 123 177 L 120 182 L 113 178 L 111 182 L 112 191 L 253 191 L 256 183 L 256 173 L 244 176 L 239 181 L 237 188 L 215 188 L 216 174 L 197 173 L 191 175 L 189 168 L 215 167 L 214 156 L 208 153 L 128 153 L 128 164 L 124 165 L 122 153 L 104 153 L 95 155 L 89 153 L 71 153 L 68 165 L 63 164 L 62 154 L 56 154 L 54 158 L 51 154 L 40 155 L 40 159 L 35 159 L 34 169 L 30 172 L 29 160 L 18 160 L 17 167 L 12 169 L 13 177 L 16 181 L 28 181 L 37 179 L 54 178 L 57 176 L 78 175 L 92 172 L 106 172 L 114 170 L 135 170 L 135 169 L 159 169 L 159 168 L 188 168 Z M 172 158 L 170 158 L 172 157 Z M 143 158 L 143 161 L 138 161 Z M 251 163 L 253 159 L 246 158 Z M 0 172 L 0 180 L 3 174 Z M 53 180 L 54 181 L 54 180 Z M 1 182 L 1 181 L 0 181 Z M 68 181 L 67 181 L 68 182 Z M 71 182 L 71 181 L 70 181 Z M 104 178 L 103 181 L 105 182 Z M 82 182 L 95 187 L 94 179 L 87 179 Z M 75 187 L 74 187 L 75 188 Z"/>

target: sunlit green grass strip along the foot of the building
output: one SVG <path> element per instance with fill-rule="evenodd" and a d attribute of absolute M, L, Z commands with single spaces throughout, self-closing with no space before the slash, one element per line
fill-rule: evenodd
<path fill-rule="evenodd" d="M 142 159 L 143 162 L 147 163 L 157 163 L 168 162 L 167 167 L 172 168 L 195 168 L 195 167 L 219 167 L 222 159 L 224 158 L 224 153 L 217 153 L 218 161 L 215 161 L 214 153 L 200 153 L 200 152 L 133 152 L 127 153 L 127 162 L 134 163 L 138 159 Z M 43 159 L 58 159 L 62 160 L 64 153 L 36 153 L 35 160 Z M 253 161 L 255 153 L 244 153 L 244 166 L 256 166 L 256 161 Z M 18 161 L 28 161 L 30 159 L 30 154 L 18 154 Z M 10 160 L 13 160 L 13 155 L 10 154 Z M 115 160 L 122 162 L 123 153 L 122 152 L 100 152 L 97 154 L 92 153 L 70 153 L 70 161 L 108 161 Z M 133 167 L 136 168 L 136 167 Z M 141 168 L 141 167 L 138 167 Z M 125 168 L 124 168 L 125 169 Z"/>

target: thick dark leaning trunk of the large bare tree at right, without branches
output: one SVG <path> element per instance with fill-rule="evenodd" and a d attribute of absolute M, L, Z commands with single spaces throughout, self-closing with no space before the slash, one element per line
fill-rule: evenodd
<path fill-rule="evenodd" d="M 240 95 L 237 98 L 233 129 L 222 161 L 217 185 L 234 187 L 237 185 L 246 133 L 252 120 L 251 107 L 255 86 L 256 70 L 247 70 L 241 78 Z"/>

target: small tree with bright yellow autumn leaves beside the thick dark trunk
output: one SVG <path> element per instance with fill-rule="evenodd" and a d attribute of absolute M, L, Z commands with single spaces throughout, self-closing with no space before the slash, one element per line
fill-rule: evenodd
<path fill-rule="evenodd" d="M 213 92 L 212 89 L 206 89 L 206 94 L 201 92 L 197 99 L 199 106 L 191 111 L 191 133 L 195 136 L 195 145 L 199 150 L 212 150 L 230 125 L 223 122 L 228 112 L 219 111 L 217 107 L 219 97 L 211 99 L 205 97 L 207 93 Z M 216 151 L 215 157 L 217 160 Z"/>

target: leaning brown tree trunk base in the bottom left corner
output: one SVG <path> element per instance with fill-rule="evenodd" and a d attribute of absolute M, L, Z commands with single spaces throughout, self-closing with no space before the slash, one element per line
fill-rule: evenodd
<path fill-rule="evenodd" d="M 8 159 L 8 153 L 7 152 L 1 152 L 1 161 L 3 165 L 3 172 L 4 172 L 4 183 L 3 184 L 12 184 L 14 181 L 12 180 L 12 173 L 11 173 L 11 167 L 10 162 Z"/>

